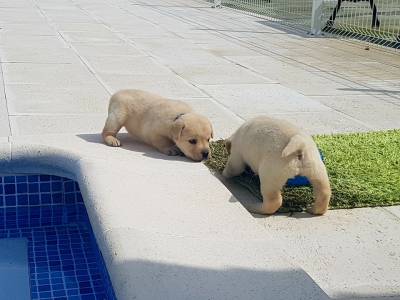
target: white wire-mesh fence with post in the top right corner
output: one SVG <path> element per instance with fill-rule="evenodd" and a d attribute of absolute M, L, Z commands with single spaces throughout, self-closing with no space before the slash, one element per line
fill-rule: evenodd
<path fill-rule="evenodd" d="M 211 0 L 310 31 L 400 49 L 400 0 Z"/>

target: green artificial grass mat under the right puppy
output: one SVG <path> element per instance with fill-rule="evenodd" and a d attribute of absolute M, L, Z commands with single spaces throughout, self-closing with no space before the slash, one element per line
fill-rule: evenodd
<path fill-rule="evenodd" d="M 330 209 L 400 204 L 400 130 L 313 138 L 322 150 L 331 182 Z M 206 165 L 221 173 L 228 158 L 224 141 L 212 142 L 211 150 Z M 232 180 L 262 200 L 258 176 L 250 170 Z M 279 211 L 303 211 L 312 201 L 311 187 L 284 187 Z"/>

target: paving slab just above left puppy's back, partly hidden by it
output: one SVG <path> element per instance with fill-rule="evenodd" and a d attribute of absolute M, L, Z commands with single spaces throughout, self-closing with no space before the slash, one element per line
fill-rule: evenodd
<path fill-rule="evenodd" d="M 110 91 L 120 89 L 142 89 L 169 98 L 205 97 L 200 89 L 186 82 L 175 74 L 97 74 Z"/>

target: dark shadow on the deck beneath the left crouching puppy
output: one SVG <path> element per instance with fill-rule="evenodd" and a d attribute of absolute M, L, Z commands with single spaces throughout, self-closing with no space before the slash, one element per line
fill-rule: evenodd
<path fill-rule="evenodd" d="M 135 141 L 128 133 L 119 133 L 118 139 L 121 141 L 120 147 L 110 147 L 104 144 L 103 138 L 101 134 L 95 133 L 85 133 L 85 134 L 78 134 L 77 137 L 85 140 L 88 143 L 99 144 L 103 147 L 115 149 L 118 151 L 123 152 L 134 152 L 137 154 L 141 154 L 145 157 L 150 157 L 154 159 L 162 159 L 168 161 L 179 161 L 184 163 L 196 163 L 185 156 L 168 156 L 163 153 L 158 152 L 153 147 L 150 147 L 142 142 Z"/>

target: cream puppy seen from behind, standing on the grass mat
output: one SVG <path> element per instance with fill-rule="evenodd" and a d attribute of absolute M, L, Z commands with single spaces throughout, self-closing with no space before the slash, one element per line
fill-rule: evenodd
<path fill-rule="evenodd" d="M 273 214 L 282 205 L 281 190 L 289 178 L 306 176 L 314 191 L 313 214 L 326 212 L 331 197 L 328 174 L 311 136 L 289 122 L 256 117 L 226 142 L 229 158 L 223 176 L 239 175 L 248 165 L 260 177 L 263 202 L 251 212 Z"/>

